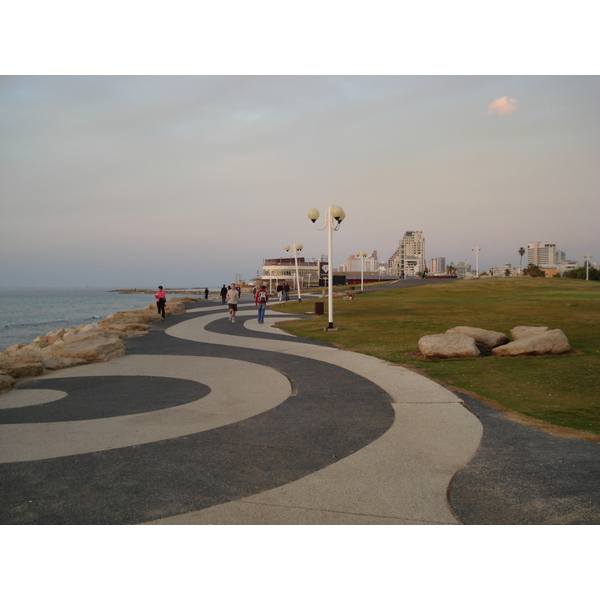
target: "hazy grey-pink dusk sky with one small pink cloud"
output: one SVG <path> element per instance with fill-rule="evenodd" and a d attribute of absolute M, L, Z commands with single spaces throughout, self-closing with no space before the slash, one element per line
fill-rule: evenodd
<path fill-rule="evenodd" d="M 334 266 L 596 262 L 599 158 L 598 76 L 4 76 L 0 287 L 250 279 L 330 204 Z"/>

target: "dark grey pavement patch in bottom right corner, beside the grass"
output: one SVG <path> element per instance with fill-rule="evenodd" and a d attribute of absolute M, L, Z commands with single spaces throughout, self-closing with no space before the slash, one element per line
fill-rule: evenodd
<path fill-rule="evenodd" d="M 600 444 L 562 438 L 504 418 L 457 394 L 483 424 L 476 456 L 449 498 L 471 525 L 600 525 Z"/>

